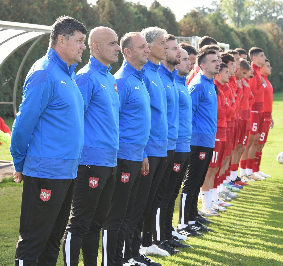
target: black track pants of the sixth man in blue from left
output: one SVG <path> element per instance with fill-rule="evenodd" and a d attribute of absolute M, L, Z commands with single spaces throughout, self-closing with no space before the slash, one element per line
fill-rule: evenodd
<path fill-rule="evenodd" d="M 172 231 L 171 231 L 171 226 L 172 226 L 172 219 L 173 219 L 173 213 L 171 214 L 170 212 L 171 209 L 168 209 L 168 204 L 171 202 L 173 194 L 175 189 L 179 190 L 181 188 L 183 179 L 185 177 L 185 173 L 188 167 L 188 163 L 190 160 L 190 153 L 179 153 L 175 152 L 174 158 L 173 158 L 173 167 L 171 167 L 171 173 L 170 173 L 170 178 L 166 187 L 165 195 L 157 209 L 156 213 L 156 219 L 154 221 L 154 230 L 153 230 L 153 240 L 154 241 L 163 241 L 166 240 L 165 238 L 165 222 L 166 222 L 166 217 L 169 218 L 170 220 L 167 221 L 167 226 L 170 228 L 171 236 L 172 236 Z M 163 180 L 162 180 L 163 181 Z M 161 182 L 162 182 L 161 181 Z M 161 183 L 160 183 L 161 185 Z M 157 191 L 158 192 L 158 191 Z M 156 193 L 157 193 L 156 192 Z M 178 195 L 178 194 L 177 194 Z M 173 212 L 174 212 L 174 205 L 175 205 L 175 200 L 173 200 Z M 168 214 L 167 214 L 168 212 Z M 172 215 L 172 218 L 171 218 Z M 170 223 L 170 226 L 168 223 Z M 144 228 L 143 228 L 144 231 Z M 170 237 L 169 239 L 171 239 Z"/>

